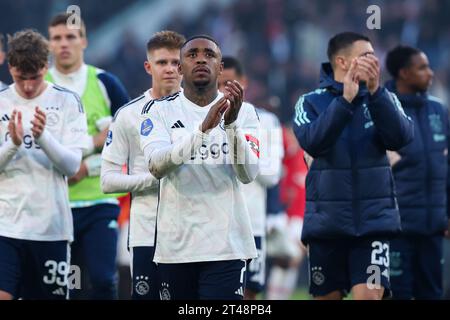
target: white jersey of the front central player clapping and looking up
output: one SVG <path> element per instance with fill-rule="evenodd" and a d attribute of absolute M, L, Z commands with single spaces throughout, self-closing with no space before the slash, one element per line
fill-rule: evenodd
<path fill-rule="evenodd" d="M 198 130 L 211 106 L 198 106 L 183 92 L 155 100 L 143 110 L 141 149 L 152 142 L 170 145 Z M 255 134 L 255 109 L 241 107 L 237 126 Z M 232 167 L 224 121 L 190 161 L 160 181 L 154 261 L 185 263 L 251 259 L 257 256 L 241 183 Z"/>

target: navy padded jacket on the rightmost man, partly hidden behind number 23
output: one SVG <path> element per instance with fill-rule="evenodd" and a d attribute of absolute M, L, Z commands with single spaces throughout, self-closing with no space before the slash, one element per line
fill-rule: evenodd
<path fill-rule="evenodd" d="M 397 94 L 395 82 L 386 87 Z M 397 151 L 400 160 L 392 167 L 402 231 L 409 235 L 442 234 L 449 218 L 448 111 L 427 93 L 397 96 L 415 130 L 413 141 Z"/>

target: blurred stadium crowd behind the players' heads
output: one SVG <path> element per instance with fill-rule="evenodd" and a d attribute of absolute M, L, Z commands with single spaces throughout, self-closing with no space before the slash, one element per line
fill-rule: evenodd
<path fill-rule="evenodd" d="M 373 4 L 381 8 L 381 30 L 366 27 Z M 246 99 L 286 124 L 299 95 L 317 86 L 328 39 L 350 30 L 372 39 L 383 67 L 397 44 L 421 48 L 435 71 L 432 94 L 450 101 L 450 0 L 2 0 L 0 32 L 34 28 L 47 35 L 49 19 L 70 5 L 80 7 L 87 25 L 86 61 L 116 74 L 131 97 L 151 85 L 143 62 L 154 32 L 209 34 L 224 55 L 243 61 Z M 0 80 L 11 81 L 5 65 Z"/>

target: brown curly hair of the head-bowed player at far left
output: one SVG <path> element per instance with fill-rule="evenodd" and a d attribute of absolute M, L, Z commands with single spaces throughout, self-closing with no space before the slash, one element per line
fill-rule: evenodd
<path fill-rule="evenodd" d="M 26 29 L 8 37 L 8 64 L 25 74 L 38 73 L 48 64 L 48 42 L 39 32 Z"/>

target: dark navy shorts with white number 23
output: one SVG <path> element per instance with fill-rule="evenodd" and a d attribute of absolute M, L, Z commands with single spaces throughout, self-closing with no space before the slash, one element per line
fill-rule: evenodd
<path fill-rule="evenodd" d="M 389 241 L 383 237 L 311 240 L 310 293 L 324 296 L 340 291 L 344 296 L 357 284 L 390 293 Z"/>

